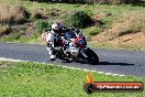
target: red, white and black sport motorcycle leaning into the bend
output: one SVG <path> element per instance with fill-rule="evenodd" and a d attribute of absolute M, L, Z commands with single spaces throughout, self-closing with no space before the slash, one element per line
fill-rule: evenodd
<path fill-rule="evenodd" d="M 79 30 L 70 29 L 64 37 L 64 46 L 56 51 L 57 58 L 64 61 L 87 61 L 90 64 L 98 64 L 98 55 L 87 46 L 87 40 Z"/>

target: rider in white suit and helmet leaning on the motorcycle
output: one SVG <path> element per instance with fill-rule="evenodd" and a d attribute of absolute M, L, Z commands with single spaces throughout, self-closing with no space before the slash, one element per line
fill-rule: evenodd
<path fill-rule="evenodd" d="M 66 30 L 64 30 L 60 22 L 55 22 L 52 24 L 52 30 L 46 35 L 47 50 L 51 56 L 51 61 L 55 61 L 56 54 L 55 48 L 58 46 L 64 46 L 62 36 Z"/>

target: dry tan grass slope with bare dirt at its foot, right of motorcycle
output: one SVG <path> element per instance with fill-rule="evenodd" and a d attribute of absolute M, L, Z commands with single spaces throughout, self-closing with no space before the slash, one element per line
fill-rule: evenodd
<path fill-rule="evenodd" d="M 109 29 L 92 36 L 92 42 L 145 48 L 145 14 L 123 13 Z"/>

